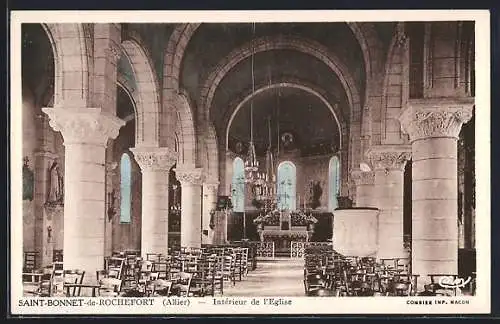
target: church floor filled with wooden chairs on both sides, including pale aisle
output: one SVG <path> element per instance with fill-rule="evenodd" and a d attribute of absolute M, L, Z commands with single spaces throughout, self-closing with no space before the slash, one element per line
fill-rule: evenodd
<path fill-rule="evenodd" d="M 39 297 L 360 297 L 474 295 L 476 279 L 461 288 L 446 288 L 456 275 L 429 274 L 419 284 L 407 258 L 377 260 L 344 256 L 330 243 L 306 244 L 296 258 L 261 258 L 257 244 L 171 250 L 116 252 L 106 258 L 95 280 L 85 271 L 54 262 L 41 271 L 23 273 L 25 296 Z M 259 260 L 260 259 L 260 260 Z"/>

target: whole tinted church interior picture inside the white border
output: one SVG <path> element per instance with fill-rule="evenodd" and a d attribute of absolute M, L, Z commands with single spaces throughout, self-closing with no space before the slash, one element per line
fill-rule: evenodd
<path fill-rule="evenodd" d="M 23 24 L 24 295 L 473 295 L 474 40 Z"/>

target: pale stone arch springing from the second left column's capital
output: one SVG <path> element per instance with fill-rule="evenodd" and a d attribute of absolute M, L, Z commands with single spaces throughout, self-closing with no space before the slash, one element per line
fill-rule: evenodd
<path fill-rule="evenodd" d="M 134 93 L 137 118 L 136 146 L 156 147 L 159 144 L 159 82 L 154 73 L 152 59 L 138 35 L 128 36 L 121 46 L 137 80 L 137 91 Z"/>

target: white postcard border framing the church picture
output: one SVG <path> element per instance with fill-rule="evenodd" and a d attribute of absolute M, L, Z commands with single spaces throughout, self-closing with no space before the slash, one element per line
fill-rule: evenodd
<path fill-rule="evenodd" d="M 310 10 L 310 11 L 12 11 L 11 12 L 11 215 L 10 215 L 10 302 L 12 314 L 474 314 L 490 312 L 490 15 L 487 10 Z M 292 305 L 214 306 L 213 298 L 189 298 L 189 306 L 165 306 L 165 298 L 154 305 L 82 307 L 23 307 L 22 297 L 22 97 L 21 97 L 21 23 L 23 22 L 318 22 L 318 21 L 445 21 L 474 20 L 476 23 L 476 296 L 457 299 L 461 305 L 419 305 L 419 300 L 434 303 L 439 297 L 276 297 Z M 216 299 L 225 299 L 217 297 Z M 229 297 L 228 297 L 229 298 Z M 265 297 L 270 298 L 270 297 Z M 49 298 L 53 299 L 53 298 Z M 68 298 L 69 299 L 69 298 Z M 101 298 L 82 298 L 84 302 Z M 172 299 L 172 298 L 171 298 Z M 48 300 L 48 299 L 47 299 Z M 56 299 L 53 299 L 56 300 Z M 59 299 L 64 300 L 64 299 Z M 185 299 L 184 299 L 185 300 Z M 54 302 L 55 303 L 55 302 Z M 106 303 L 106 302 L 104 302 Z"/>

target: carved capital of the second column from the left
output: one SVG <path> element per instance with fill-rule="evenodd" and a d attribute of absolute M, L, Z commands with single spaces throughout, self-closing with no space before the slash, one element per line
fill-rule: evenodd
<path fill-rule="evenodd" d="M 169 171 L 177 161 L 177 154 L 168 147 L 136 147 L 130 151 L 142 171 Z"/>

